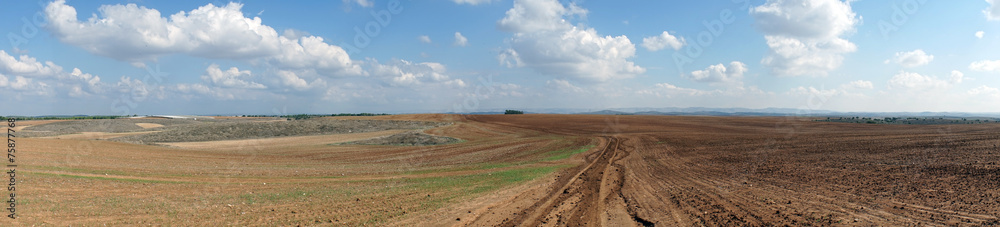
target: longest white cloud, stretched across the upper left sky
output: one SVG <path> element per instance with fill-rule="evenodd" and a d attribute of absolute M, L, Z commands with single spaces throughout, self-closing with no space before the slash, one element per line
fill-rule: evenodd
<path fill-rule="evenodd" d="M 368 2 L 368 1 L 361 1 Z M 248 18 L 243 5 L 207 4 L 190 12 L 163 16 L 135 4 L 104 5 L 85 21 L 57 0 L 45 7 L 47 29 L 63 43 L 88 52 L 142 65 L 167 54 L 213 59 L 264 59 L 277 67 L 316 67 L 330 74 L 359 74 L 343 48 L 315 36 L 279 36 L 259 17 Z M 301 36 L 301 37 L 297 37 Z"/>

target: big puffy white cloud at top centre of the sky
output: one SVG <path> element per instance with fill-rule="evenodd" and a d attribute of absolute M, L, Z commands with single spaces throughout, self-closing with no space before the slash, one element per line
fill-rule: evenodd
<path fill-rule="evenodd" d="M 607 81 L 630 78 L 646 69 L 629 58 L 635 45 L 626 36 L 600 36 L 593 28 L 574 26 L 569 17 L 584 17 L 587 10 L 556 0 L 515 0 L 514 7 L 497 26 L 514 35 L 510 48 L 498 58 L 508 67 L 529 67 L 540 73 Z"/>

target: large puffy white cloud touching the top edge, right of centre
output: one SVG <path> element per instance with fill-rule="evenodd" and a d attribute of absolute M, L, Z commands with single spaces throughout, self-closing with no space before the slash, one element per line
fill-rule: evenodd
<path fill-rule="evenodd" d="M 859 23 L 851 1 L 768 0 L 750 15 L 771 51 L 761 63 L 778 75 L 825 76 L 857 46 L 842 37 Z"/>

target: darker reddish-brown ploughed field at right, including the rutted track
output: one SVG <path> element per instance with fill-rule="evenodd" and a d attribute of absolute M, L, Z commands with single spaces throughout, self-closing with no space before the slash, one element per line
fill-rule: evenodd
<path fill-rule="evenodd" d="M 602 136 L 605 149 L 563 172 L 541 199 L 529 191 L 497 202 L 491 210 L 508 212 L 483 212 L 469 225 L 1000 224 L 996 125 L 640 116 L 547 123 L 552 117 L 474 119 Z"/>

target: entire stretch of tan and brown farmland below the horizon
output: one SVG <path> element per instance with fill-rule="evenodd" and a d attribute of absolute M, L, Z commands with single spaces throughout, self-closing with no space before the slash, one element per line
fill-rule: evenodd
<path fill-rule="evenodd" d="M 18 124 L 31 136 L 17 145 L 20 225 L 1000 224 L 1000 124 L 544 114 Z M 214 139 L 192 136 L 203 130 Z"/>

